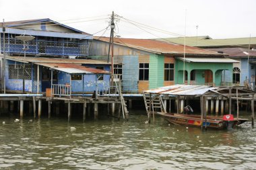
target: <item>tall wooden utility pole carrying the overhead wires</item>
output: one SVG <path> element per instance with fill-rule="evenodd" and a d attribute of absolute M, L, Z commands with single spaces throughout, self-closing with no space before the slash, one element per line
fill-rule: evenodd
<path fill-rule="evenodd" d="M 110 56 L 110 46 L 111 46 L 111 85 L 113 85 L 113 78 L 114 78 L 114 29 L 115 29 L 115 17 L 114 17 L 114 11 L 111 15 L 111 23 L 110 23 L 110 38 L 109 38 L 109 46 L 108 46 L 108 62 L 109 62 L 109 56 Z"/>

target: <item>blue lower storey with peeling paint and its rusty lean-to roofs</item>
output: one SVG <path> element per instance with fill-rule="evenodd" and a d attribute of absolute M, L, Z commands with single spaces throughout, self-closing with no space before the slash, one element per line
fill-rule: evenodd
<path fill-rule="evenodd" d="M 109 69 L 110 64 L 98 60 L 7 56 L 5 85 L 9 91 L 31 93 L 53 89 L 60 96 L 106 91 Z"/>

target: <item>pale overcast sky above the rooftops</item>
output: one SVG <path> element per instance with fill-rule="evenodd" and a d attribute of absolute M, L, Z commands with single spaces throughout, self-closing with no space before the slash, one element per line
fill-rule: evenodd
<path fill-rule="evenodd" d="M 112 11 L 139 24 L 175 34 L 185 35 L 186 30 L 187 36 L 256 36 L 256 0 L 0 0 L 1 21 L 50 18 L 90 34 L 108 26 Z M 175 37 L 142 28 L 125 19 L 117 22 L 115 32 L 123 38 Z M 103 33 L 96 36 L 109 36 L 110 30 Z"/>

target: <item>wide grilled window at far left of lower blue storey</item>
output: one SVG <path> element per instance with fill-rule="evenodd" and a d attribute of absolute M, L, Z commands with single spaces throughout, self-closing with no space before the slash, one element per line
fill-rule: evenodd
<path fill-rule="evenodd" d="M 9 79 L 24 79 L 31 80 L 31 65 L 9 65 Z"/>

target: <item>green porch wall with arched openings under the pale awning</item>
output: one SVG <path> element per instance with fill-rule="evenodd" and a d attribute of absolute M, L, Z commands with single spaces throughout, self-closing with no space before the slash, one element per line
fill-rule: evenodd
<path fill-rule="evenodd" d="M 217 58 L 216 58 L 217 60 Z M 175 61 L 175 84 L 183 83 L 183 61 Z M 185 70 L 188 71 L 188 79 L 190 79 L 190 72 L 196 70 L 195 81 L 197 83 L 204 83 L 205 78 L 202 76 L 205 70 L 211 70 L 216 86 L 221 85 L 221 71 L 232 71 L 232 63 L 203 63 L 203 62 L 185 62 Z"/>

